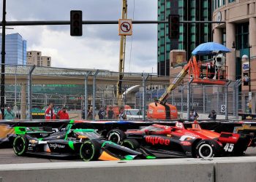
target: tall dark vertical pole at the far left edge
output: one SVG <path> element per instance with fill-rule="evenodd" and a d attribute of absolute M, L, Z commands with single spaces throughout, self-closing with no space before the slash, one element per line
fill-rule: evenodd
<path fill-rule="evenodd" d="M 4 79 L 5 79 L 5 25 L 6 25 L 6 0 L 3 0 L 3 18 L 1 21 L 2 24 L 2 33 L 1 33 L 1 113 L 4 113 Z M 2 114 L 4 119 L 4 114 Z"/>

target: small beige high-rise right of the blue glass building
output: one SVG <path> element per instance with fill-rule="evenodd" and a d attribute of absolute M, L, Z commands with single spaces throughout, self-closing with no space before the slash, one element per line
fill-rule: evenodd
<path fill-rule="evenodd" d="M 27 53 L 27 64 L 35 66 L 51 66 L 50 56 L 42 56 L 40 51 L 28 51 Z"/>

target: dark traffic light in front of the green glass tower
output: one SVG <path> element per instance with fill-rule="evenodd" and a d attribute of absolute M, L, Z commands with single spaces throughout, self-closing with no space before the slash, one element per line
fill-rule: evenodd
<path fill-rule="evenodd" d="M 179 15 L 168 16 L 168 37 L 169 39 L 178 39 L 179 36 Z"/>

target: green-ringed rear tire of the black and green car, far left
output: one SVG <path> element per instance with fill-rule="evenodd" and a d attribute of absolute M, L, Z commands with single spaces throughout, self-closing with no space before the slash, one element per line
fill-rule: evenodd
<path fill-rule="evenodd" d="M 28 140 L 24 135 L 18 135 L 13 141 L 13 151 L 17 156 L 24 156 L 28 151 Z"/>

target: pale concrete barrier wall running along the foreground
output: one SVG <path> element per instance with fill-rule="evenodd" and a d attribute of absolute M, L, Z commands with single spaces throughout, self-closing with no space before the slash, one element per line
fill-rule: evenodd
<path fill-rule="evenodd" d="M 0 165 L 0 181 L 255 182 L 255 169 L 256 157 L 56 162 Z"/>

